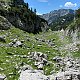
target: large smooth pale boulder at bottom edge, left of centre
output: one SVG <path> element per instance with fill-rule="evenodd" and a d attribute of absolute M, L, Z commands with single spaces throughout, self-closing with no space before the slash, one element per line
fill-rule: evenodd
<path fill-rule="evenodd" d="M 19 80 L 50 80 L 39 70 L 25 70 L 20 74 Z"/>

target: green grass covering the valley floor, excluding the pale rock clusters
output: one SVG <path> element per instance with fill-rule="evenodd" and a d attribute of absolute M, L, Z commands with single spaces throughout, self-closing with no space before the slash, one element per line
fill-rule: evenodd
<path fill-rule="evenodd" d="M 64 44 L 68 44 L 69 41 L 65 38 L 63 41 L 60 38 L 63 33 L 62 32 L 52 32 L 48 31 L 45 33 L 40 34 L 29 34 L 27 32 L 24 32 L 22 30 L 19 30 L 17 28 L 11 28 L 6 31 L 0 31 L 0 35 L 6 35 L 6 43 L 0 42 L 0 44 L 8 44 L 12 42 L 12 39 L 17 38 L 18 40 L 24 40 L 23 48 L 21 47 L 0 47 L 0 73 L 6 74 L 8 80 L 18 80 L 19 74 L 19 68 L 16 68 L 17 66 L 20 67 L 22 62 L 31 65 L 33 68 L 36 69 L 34 66 L 34 61 L 30 60 L 28 58 L 23 58 L 21 56 L 28 55 L 28 52 L 30 51 L 39 51 L 43 52 L 48 55 L 48 61 L 50 61 L 50 65 L 44 66 L 44 72 L 45 74 L 50 74 L 52 70 L 59 70 L 59 68 L 56 68 L 54 63 L 52 61 L 52 58 L 56 55 L 59 56 L 65 56 L 67 51 L 64 49 L 60 49 L 60 47 L 64 47 Z M 56 47 L 49 46 L 46 42 L 39 42 L 35 38 L 44 39 L 44 40 L 53 40 L 53 43 Z M 42 44 L 42 46 L 38 46 L 39 44 Z M 63 53 L 64 54 L 61 54 Z M 16 55 L 16 56 L 15 56 Z"/>

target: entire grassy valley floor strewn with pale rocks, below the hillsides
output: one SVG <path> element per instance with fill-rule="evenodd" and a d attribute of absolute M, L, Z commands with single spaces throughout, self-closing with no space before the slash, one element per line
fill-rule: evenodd
<path fill-rule="evenodd" d="M 71 29 L 35 35 L 15 27 L 0 30 L 0 74 L 3 79 L 79 80 L 80 33 L 79 38 L 75 36 L 78 41 L 74 42 L 68 30 Z"/>

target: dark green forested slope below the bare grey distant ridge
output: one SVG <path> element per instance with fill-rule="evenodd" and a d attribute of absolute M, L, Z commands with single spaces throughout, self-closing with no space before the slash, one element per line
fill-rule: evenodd
<path fill-rule="evenodd" d="M 73 22 L 74 14 L 67 14 L 65 16 L 59 17 L 57 20 L 53 21 L 49 26 L 51 30 L 58 31 L 61 29 L 66 29 L 71 22 Z"/>

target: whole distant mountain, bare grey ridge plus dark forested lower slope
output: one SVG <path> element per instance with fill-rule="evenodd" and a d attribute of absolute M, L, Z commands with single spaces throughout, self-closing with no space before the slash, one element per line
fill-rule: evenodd
<path fill-rule="evenodd" d="M 41 17 L 48 21 L 52 30 L 60 30 L 66 28 L 74 19 L 74 10 L 72 9 L 59 9 L 51 11 L 50 13 L 43 14 Z"/>

